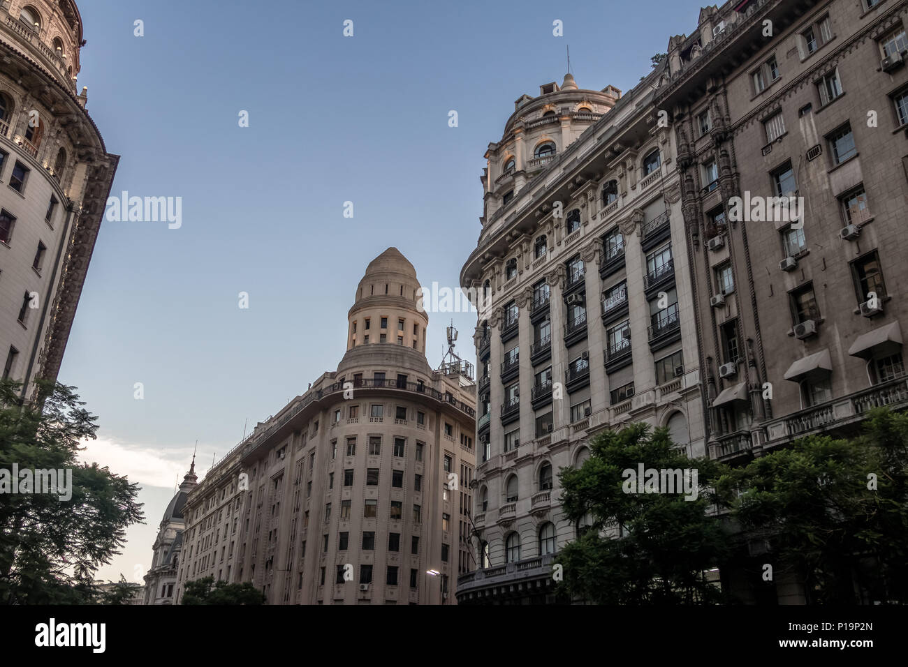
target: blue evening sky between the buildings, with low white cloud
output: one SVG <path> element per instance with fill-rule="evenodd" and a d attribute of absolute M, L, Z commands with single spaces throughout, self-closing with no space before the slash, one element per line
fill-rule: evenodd
<path fill-rule="evenodd" d="M 423 285 L 457 288 L 479 238 L 488 144 L 521 94 L 561 83 L 567 47 L 580 88 L 627 92 L 700 8 L 77 3 L 78 87 L 107 151 L 122 156 L 112 196 L 182 198 L 179 227 L 103 222 L 59 376 L 99 417 L 84 460 L 143 487 L 145 525 L 98 572 L 130 581 L 151 564 L 196 440 L 201 478 L 244 429 L 337 367 L 370 260 L 394 246 Z M 430 314 L 433 367 L 450 319 L 475 361 L 475 313 Z"/>

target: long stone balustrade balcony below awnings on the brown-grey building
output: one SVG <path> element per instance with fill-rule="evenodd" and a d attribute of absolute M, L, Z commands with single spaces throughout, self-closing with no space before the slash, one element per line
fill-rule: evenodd
<path fill-rule="evenodd" d="M 908 380 L 894 379 L 774 419 L 766 425 L 767 444 L 774 446 L 795 437 L 844 430 L 844 427 L 851 427 L 855 422 L 863 420 L 873 407 L 889 407 L 892 410 L 908 407 Z"/>

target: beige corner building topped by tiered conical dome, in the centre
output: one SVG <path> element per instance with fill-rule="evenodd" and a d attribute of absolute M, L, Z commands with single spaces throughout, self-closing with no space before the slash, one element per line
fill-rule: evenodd
<path fill-rule="evenodd" d="M 429 367 L 418 303 L 399 250 L 370 262 L 337 370 L 190 494 L 178 600 L 211 575 L 271 604 L 455 602 L 472 569 L 475 385 L 467 365 Z"/>

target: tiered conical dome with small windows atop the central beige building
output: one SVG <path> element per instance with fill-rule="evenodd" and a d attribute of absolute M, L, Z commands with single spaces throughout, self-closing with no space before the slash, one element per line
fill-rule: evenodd
<path fill-rule="evenodd" d="M 397 248 L 369 262 L 347 314 L 347 349 L 390 343 L 426 353 L 429 313 L 419 308 L 416 270 Z"/>

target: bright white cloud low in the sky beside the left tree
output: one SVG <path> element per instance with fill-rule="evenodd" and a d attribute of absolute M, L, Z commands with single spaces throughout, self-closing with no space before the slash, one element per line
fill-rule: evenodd
<path fill-rule="evenodd" d="M 85 463 L 97 462 L 107 466 L 116 475 L 127 476 L 129 481 L 142 486 L 163 486 L 183 480 L 192 460 L 192 447 L 130 445 L 114 438 L 98 436 L 85 440 L 79 459 Z"/>

